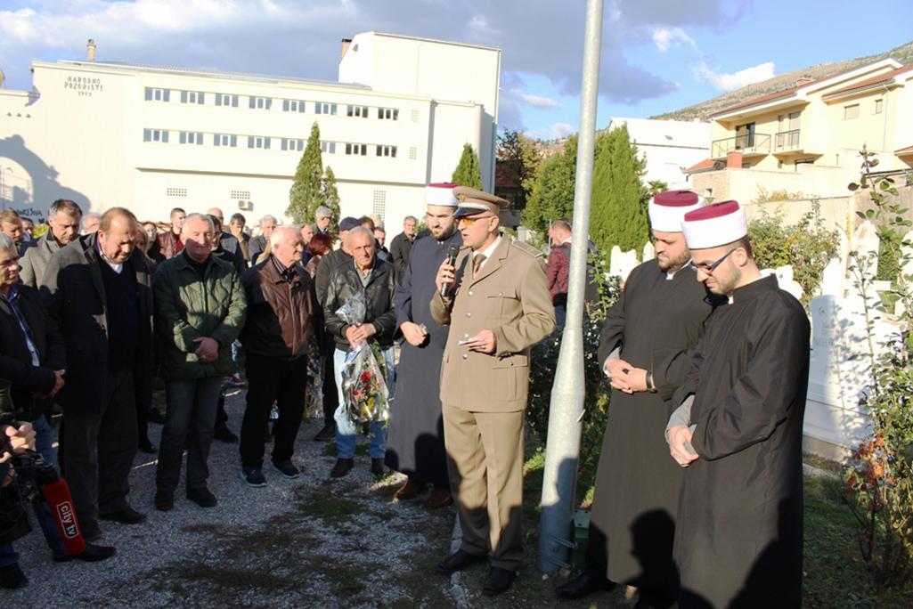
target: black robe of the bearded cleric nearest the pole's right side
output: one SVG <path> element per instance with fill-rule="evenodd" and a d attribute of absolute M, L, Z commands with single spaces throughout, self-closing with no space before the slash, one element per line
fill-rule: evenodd
<path fill-rule="evenodd" d="M 652 371 L 656 394 L 612 391 L 590 520 L 590 564 L 614 582 L 674 592 L 672 540 L 682 472 L 663 438 L 669 399 L 685 381 L 687 350 L 703 334 L 714 303 L 695 269 L 671 279 L 656 259 L 635 268 L 603 325 L 599 362 L 616 347 Z"/>

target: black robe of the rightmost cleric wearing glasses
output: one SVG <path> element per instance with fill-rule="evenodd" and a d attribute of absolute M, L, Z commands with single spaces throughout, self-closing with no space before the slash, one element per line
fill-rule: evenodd
<path fill-rule="evenodd" d="M 762 278 L 709 321 L 674 403 L 695 395 L 675 556 L 680 606 L 802 604 L 802 431 L 809 322 Z"/>

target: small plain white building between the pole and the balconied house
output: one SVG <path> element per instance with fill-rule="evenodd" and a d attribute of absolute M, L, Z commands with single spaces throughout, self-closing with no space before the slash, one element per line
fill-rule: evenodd
<path fill-rule="evenodd" d="M 614 118 L 608 131 L 627 125 L 631 142 L 646 159 L 644 182 L 661 180 L 671 189 L 687 189 L 685 170 L 707 158 L 710 123 Z"/>

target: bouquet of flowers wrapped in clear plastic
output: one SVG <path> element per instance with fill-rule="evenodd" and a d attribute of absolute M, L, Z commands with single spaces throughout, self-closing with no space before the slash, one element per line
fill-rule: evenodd
<path fill-rule="evenodd" d="M 362 294 L 355 294 L 336 314 L 346 323 L 362 323 L 365 315 Z M 357 425 L 362 423 L 390 419 L 387 370 L 377 341 L 364 341 L 346 353 L 341 374 L 343 404 L 335 418 L 342 434 L 357 433 Z"/>

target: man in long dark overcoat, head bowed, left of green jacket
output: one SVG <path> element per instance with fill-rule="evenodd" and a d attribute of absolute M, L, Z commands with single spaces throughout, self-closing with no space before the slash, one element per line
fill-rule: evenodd
<path fill-rule="evenodd" d="M 98 232 L 58 249 L 40 279 L 66 345 L 57 399 L 69 488 L 89 541 L 101 536 L 99 520 L 146 520 L 127 503 L 136 402 L 148 404 L 152 391 L 152 264 L 135 247 L 137 226 L 129 210 L 109 209 Z"/>

